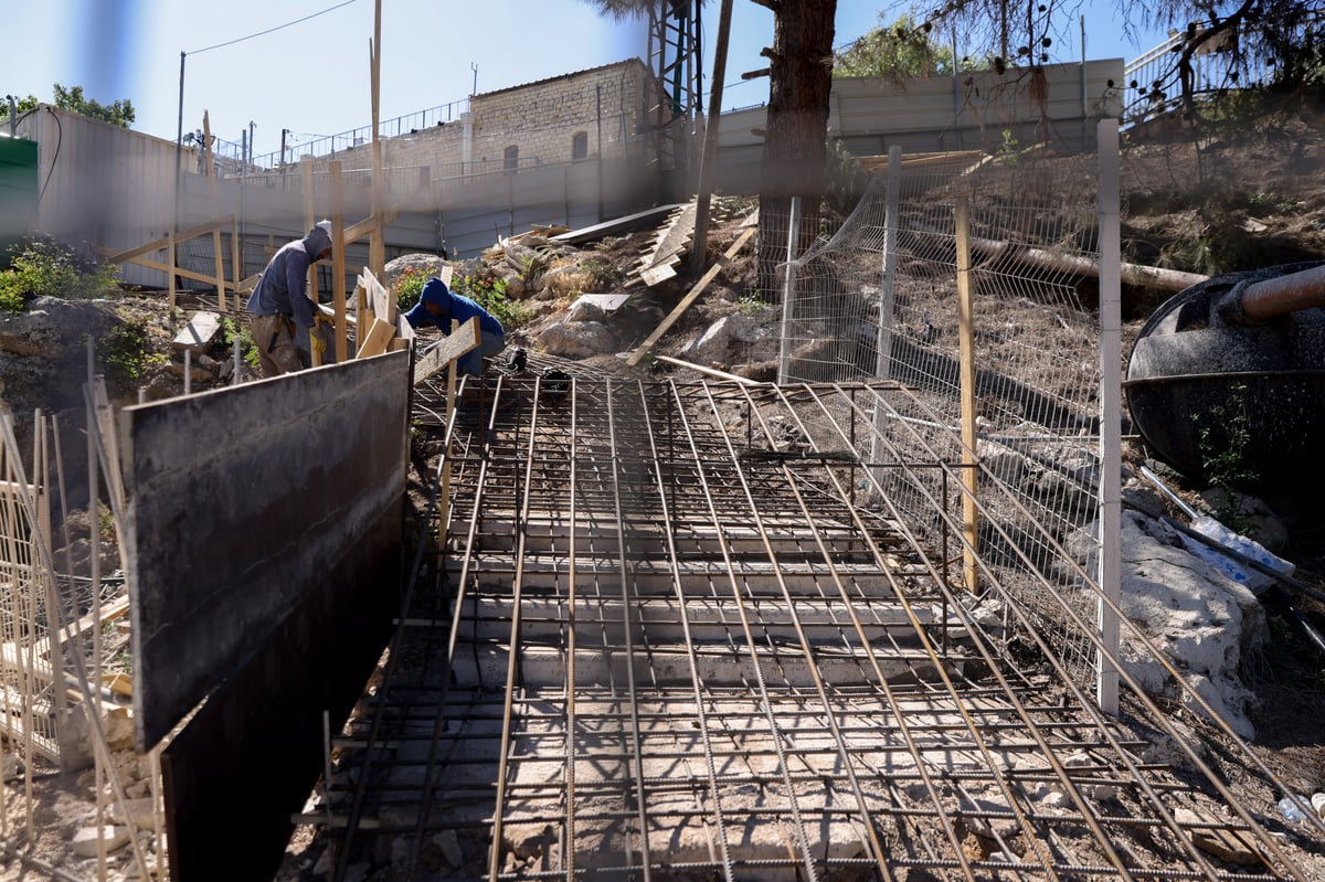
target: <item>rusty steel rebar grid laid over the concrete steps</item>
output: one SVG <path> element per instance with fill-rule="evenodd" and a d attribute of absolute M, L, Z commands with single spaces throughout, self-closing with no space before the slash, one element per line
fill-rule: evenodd
<path fill-rule="evenodd" d="M 950 471 L 844 456 L 892 399 L 535 376 L 460 405 L 445 540 L 310 814 L 343 832 L 335 875 L 1306 878 L 1048 644 L 1004 657 L 1004 621 L 864 498 Z"/>

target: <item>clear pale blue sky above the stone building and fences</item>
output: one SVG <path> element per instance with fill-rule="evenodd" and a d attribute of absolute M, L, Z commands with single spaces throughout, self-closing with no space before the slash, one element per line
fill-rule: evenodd
<path fill-rule="evenodd" d="M 282 130 L 293 144 L 372 122 L 374 0 L 5 0 L 5 7 L 0 94 L 49 102 L 53 83 L 81 85 L 102 103 L 127 98 L 135 130 L 174 140 L 186 53 L 184 131 L 201 128 L 204 110 L 225 140 L 238 142 L 252 123 L 261 155 L 280 148 Z M 910 8 L 839 0 L 835 44 Z M 1083 13 L 1089 58 L 1132 58 L 1157 42 L 1124 40 L 1112 4 L 1088 4 Z M 706 4 L 704 15 L 712 70 L 718 3 Z M 734 0 L 731 32 L 723 107 L 763 103 L 767 79 L 742 81 L 741 73 L 767 65 L 759 49 L 772 45 L 772 13 Z M 643 23 L 602 19 L 582 0 L 382 0 L 380 118 L 460 101 L 476 82 L 484 93 L 643 58 Z M 942 37 L 945 45 L 950 40 Z M 1080 26 L 1057 34 L 1055 48 L 1052 61 L 1080 60 Z M 958 50 L 966 50 L 961 41 Z"/>

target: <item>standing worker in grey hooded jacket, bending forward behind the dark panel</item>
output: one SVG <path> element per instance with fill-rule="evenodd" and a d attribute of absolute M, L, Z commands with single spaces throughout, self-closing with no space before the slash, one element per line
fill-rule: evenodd
<path fill-rule="evenodd" d="M 322 343 L 319 335 L 311 332 L 317 307 L 307 295 L 309 266 L 331 256 L 330 226 L 322 221 L 303 238 L 282 245 L 249 297 L 249 328 L 264 377 L 303 368 L 297 334 L 309 334 L 313 346 Z"/>

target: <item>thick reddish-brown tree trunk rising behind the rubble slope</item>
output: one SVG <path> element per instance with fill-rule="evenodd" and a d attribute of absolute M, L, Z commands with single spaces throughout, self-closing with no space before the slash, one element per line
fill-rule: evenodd
<path fill-rule="evenodd" d="M 783 0 L 774 12 L 768 122 L 759 187 L 759 291 L 782 298 L 778 264 L 787 257 L 791 197 L 800 197 L 799 254 L 819 229 L 824 142 L 832 93 L 837 0 Z"/>

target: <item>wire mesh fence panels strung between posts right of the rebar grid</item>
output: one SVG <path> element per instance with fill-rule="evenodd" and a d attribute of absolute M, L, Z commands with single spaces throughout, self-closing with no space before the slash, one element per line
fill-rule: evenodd
<path fill-rule="evenodd" d="M 943 501 L 961 523 L 961 479 L 954 490 L 941 465 L 959 469 L 965 450 L 963 246 L 980 589 L 996 584 L 1027 608 L 1085 682 L 1094 654 L 1061 604 L 1068 597 L 1094 620 L 1080 564 L 1096 543 L 1098 319 L 1079 279 L 1096 264 L 1096 158 L 897 159 L 831 240 L 790 265 L 780 377 L 908 387 L 900 404 L 881 396 L 873 405 L 877 434 L 863 433 L 857 453 L 921 534 L 934 520 L 928 501 Z M 969 207 L 962 230 L 959 204 Z M 937 543 L 942 534 L 931 523 L 920 538 Z M 1081 560 L 1064 551 L 1069 544 Z"/>

